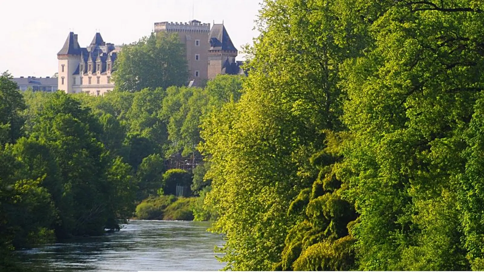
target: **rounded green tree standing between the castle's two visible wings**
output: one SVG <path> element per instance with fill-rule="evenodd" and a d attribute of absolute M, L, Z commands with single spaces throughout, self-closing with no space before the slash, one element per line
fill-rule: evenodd
<path fill-rule="evenodd" d="M 123 46 L 114 68 L 113 81 L 119 91 L 166 89 L 188 80 L 185 46 L 176 33 L 152 33 Z"/>

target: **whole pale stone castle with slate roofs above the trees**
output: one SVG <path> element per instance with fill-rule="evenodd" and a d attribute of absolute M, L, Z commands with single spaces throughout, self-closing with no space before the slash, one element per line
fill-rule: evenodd
<path fill-rule="evenodd" d="M 237 49 L 230 40 L 224 24 L 201 23 L 154 23 L 154 32 L 178 33 L 186 47 L 186 60 L 191 84 L 200 84 L 219 74 L 242 74 L 242 61 L 236 61 Z M 59 90 L 67 93 L 85 92 L 103 95 L 113 90 L 111 81 L 114 62 L 120 46 L 105 43 L 96 33 L 87 47 L 80 47 L 77 34 L 70 32 L 64 46 L 57 53 L 59 60 Z"/>

